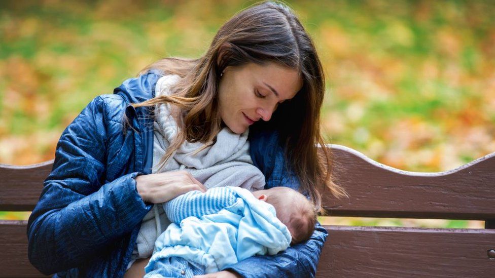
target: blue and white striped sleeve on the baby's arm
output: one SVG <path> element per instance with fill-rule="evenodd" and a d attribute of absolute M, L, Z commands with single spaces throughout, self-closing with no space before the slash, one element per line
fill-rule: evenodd
<path fill-rule="evenodd" d="M 227 187 L 214 187 L 206 192 L 189 191 L 173 198 L 163 205 L 163 210 L 172 223 L 179 224 L 189 216 L 200 218 L 231 206 L 236 201 L 236 193 Z"/>

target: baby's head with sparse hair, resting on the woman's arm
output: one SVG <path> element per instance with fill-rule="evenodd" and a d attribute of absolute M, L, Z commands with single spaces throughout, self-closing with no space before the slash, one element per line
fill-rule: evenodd
<path fill-rule="evenodd" d="M 309 239 L 316 223 L 316 212 L 311 201 L 303 194 L 284 186 L 258 190 L 253 194 L 275 208 L 277 218 L 291 232 L 291 245 Z"/>

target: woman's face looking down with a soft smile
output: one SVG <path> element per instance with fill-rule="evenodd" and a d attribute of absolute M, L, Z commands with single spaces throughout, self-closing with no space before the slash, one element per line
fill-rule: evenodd
<path fill-rule="evenodd" d="M 259 120 L 269 121 L 277 105 L 292 99 L 303 85 L 299 72 L 273 62 L 226 67 L 219 84 L 219 112 L 234 133 Z"/>

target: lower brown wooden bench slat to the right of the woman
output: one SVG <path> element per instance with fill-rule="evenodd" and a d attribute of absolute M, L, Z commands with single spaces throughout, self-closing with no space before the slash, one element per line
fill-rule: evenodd
<path fill-rule="evenodd" d="M 493 277 L 495 230 L 325 228 L 318 277 Z"/>

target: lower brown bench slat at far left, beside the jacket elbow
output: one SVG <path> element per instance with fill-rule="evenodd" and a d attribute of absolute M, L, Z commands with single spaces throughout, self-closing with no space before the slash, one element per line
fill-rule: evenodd
<path fill-rule="evenodd" d="M 0 277 L 48 277 L 27 258 L 27 221 L 0 220 Z"/>

